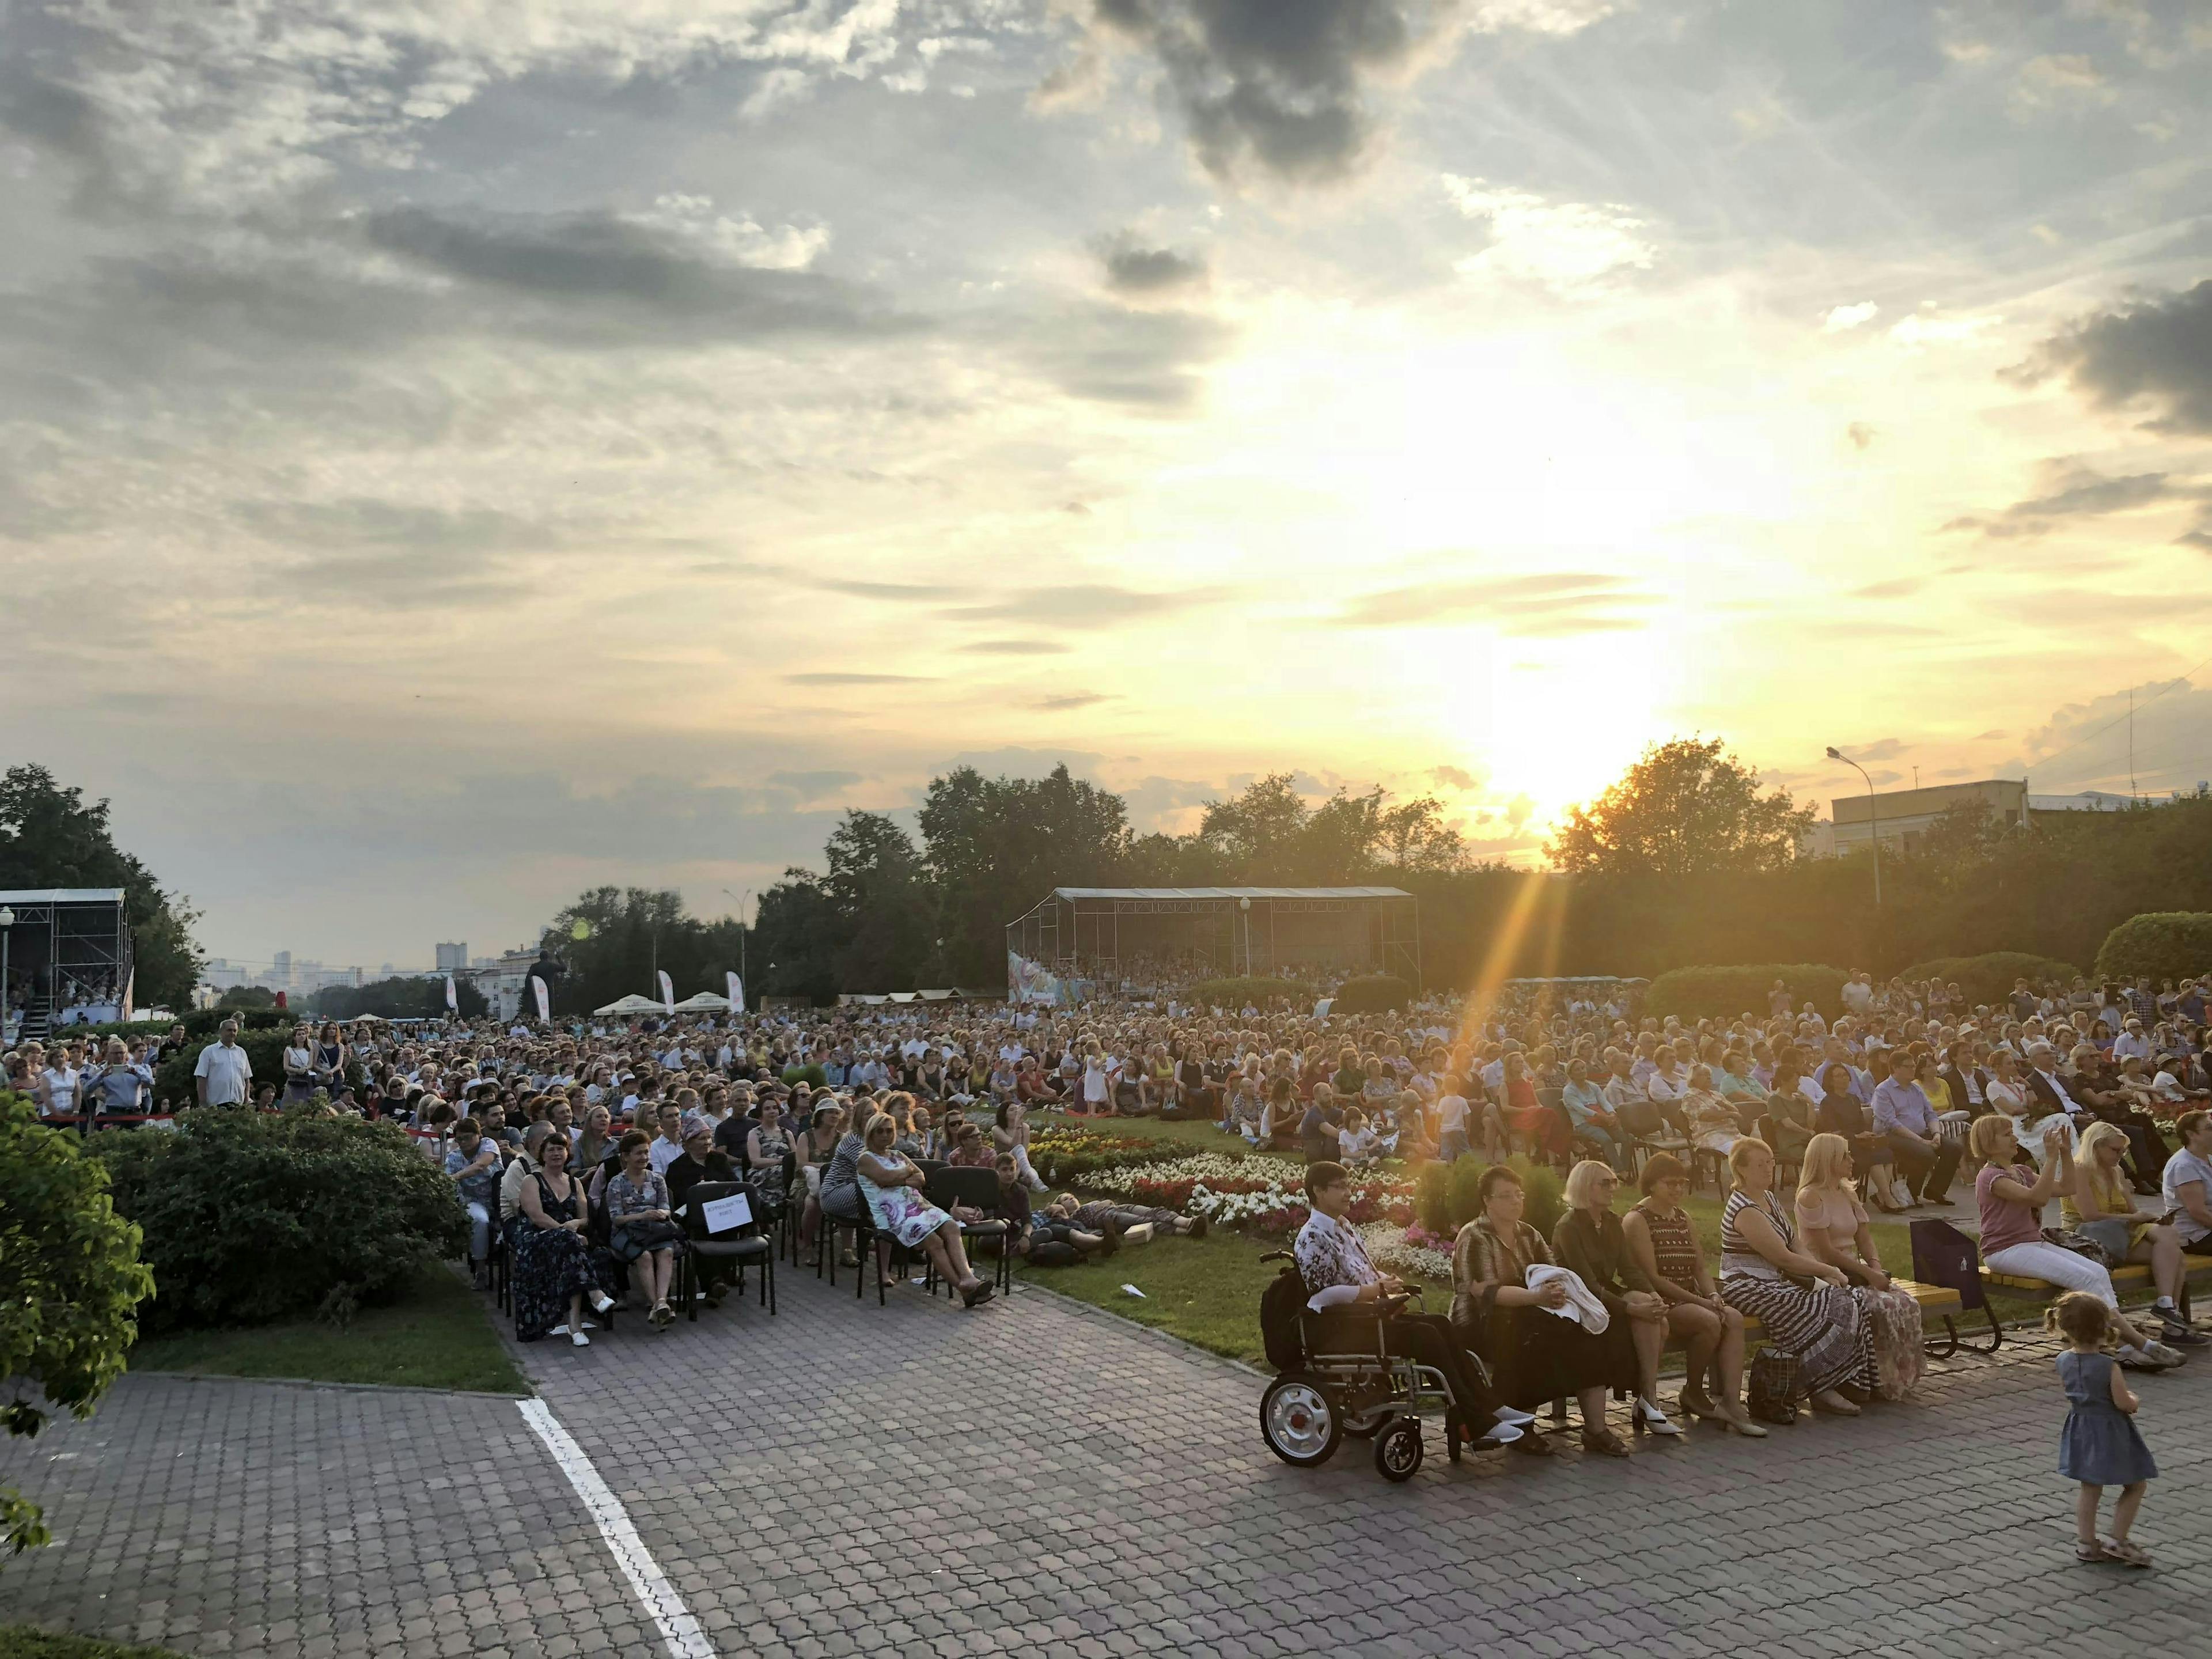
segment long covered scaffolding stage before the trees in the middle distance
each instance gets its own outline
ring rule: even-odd
[[[1055,887],[1006,922],[1015,1000],[1046,982],[1146,984],[1290,969],[1420,987],[1420,907],[1398,887]]]

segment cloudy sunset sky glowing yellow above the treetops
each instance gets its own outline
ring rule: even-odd
[[[2192,787],[2208,157],[2179,0],[0,0],[0,750],[369,964],[953,763]]]

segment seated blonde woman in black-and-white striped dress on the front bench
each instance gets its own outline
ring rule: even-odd
[[[1721,1212],[1721,1298],[1761,1323],[1767,1347],[1796,1358],[1798,1387],[1816,1411],[1856,1418],[1843,1389],[1867,1396],[1880,1380],[1860,1296],[1843,1267],[1796,1248],[1790,1210],[1774,1194],[1774,1148],[1745,1135],[1728,1168],[1736,1186]]]

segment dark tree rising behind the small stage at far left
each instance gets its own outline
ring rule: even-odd
[[[122,887],[131,914],[131,958],[139,1006],[181,1009],[199,982],[192,942],[199,914],[161,891],[161,883],[108,834],[108,803],[84,805],[42,765],[0,772],[0,889]]]

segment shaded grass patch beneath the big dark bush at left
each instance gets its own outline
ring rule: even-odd
[[[131,1349],[131,1369],[529,1394],[491,1329],[491,1298],[438,1263],[392,1307],[363,1307],[349,1329],[307,1318],[150,1336]],[[7,1648],[0,1659],[9,1659]]]

